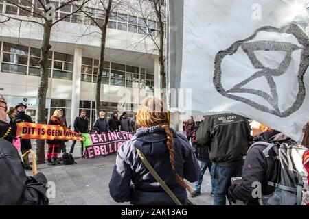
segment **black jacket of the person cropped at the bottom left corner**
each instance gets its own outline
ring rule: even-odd
[[[27,177],[21,157],[10,142],[0,139],[0,205],[48,205],[47,179]]]

